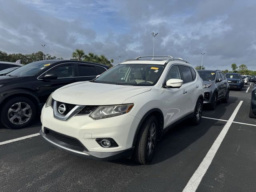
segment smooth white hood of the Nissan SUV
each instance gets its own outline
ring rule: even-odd
[[[77,105],[122,104],[126,99],[150,91],[151,87],[77,82],[59,88],[52,98]]]

